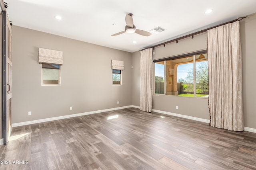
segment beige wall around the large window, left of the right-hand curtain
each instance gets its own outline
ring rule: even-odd
[[[192,51],[204,50],[207,48],[207,35],[202,33],[194,36],[192,39],[186,38],[178,41],[178,43],[173,42],[161,47],[156,47],[153,55],[154,59],[160,59],[175,55],[180,55],[184,53],[190,53]],[[132,64],[140,62],[140,53],[134,52],[132,54]],[[140,80],[140,69],[133,69],[132,79]],[[140,106],[140,84],[134,86],[133,83],[133,96],[132,104],[135,106]],[[178,106],[179,109],[176,109]],[[202,119],[209,119],[209,109],[208,109],[208,99],[205,98],[189,98],[180,96],[164,96],[164,95],[153,95],[152,108],[168,111],[172,113],[178,113],[182,115],[188,115],[193,117],[199,117]]]

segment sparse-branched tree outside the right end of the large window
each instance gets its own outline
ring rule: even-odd
[[[191,68],[188,71],[188,75],[185,78],[186,82],[194,82],[194,69]],[[196,64],[196,83],[206,83],[208,84],[208,62],[201,61]]]

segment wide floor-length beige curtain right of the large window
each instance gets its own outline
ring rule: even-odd
[[[243,131],[240,23],[207,31],[210,125]]]

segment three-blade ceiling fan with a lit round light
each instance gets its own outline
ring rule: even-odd
[[[135,25],[133,24],[133,19],[132,19],[132,16],[133,14],[127,14],[125,16],[125,22],[126,22],[126,26],[124,27],[124,31],[121,31],[119,33],[115,33],[111,36],[116,36],[116,35],[120,35],[122,33],[137,33],[137,34],[140,34],[140,35],[143,35],[143,36],[149,36],[151,35],[151,33],[147,32],[147,31],[143,31],[143,30],[140,30],[140,29],[136,29]]]

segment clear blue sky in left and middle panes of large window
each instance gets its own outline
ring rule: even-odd
[[[177,80],[179,80],[180,78],[186,78],[186,76],[188,75],[188,70],[190,70],[191,68],[193,68],[193,63],[180,64],[177,67]],[[164,77],[164,64],[155,63],[155,75]]]

